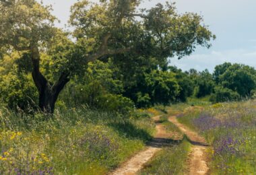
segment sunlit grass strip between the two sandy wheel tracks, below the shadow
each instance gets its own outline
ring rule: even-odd
[[[184,139],[179,145],[165,147],[154,155],[139,174],[184,174],[190,146]]]

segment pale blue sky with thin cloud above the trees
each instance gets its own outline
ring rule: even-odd
[[[64,27],[69,19],[69,8],[77,0],[43,0],[53,5],[53,13]],[[95,0],[94,0],[95,1]],[[165,0],[145,1],[141,7],[152,7]],[[189,57],[171,59],[171,65],[183,70],[214,70],[225,61],[256,67],[256,1],[255,0],[172,0],[179,13],[185,11],[203,15],[204,23],[216,34],[212,48],[200,48]]]

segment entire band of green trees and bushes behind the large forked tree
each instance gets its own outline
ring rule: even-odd
[[[9,108],[34,110],[38,91],[30,75],[28,55],[13,53],[0,61],[0,99]],[[65,87],[57,106],[77,108],[82,105],[125,113],[134,107],[186,102],[188,97],[210,96],[212,102],[251,98],[256,88],[253,67],[224,63],[214,73],[181,71],[154,60],[144,63],[115,58],[88,63],[83,75],[75,76]],[[42,55],[42,71],[51,77],[51,59]]]

